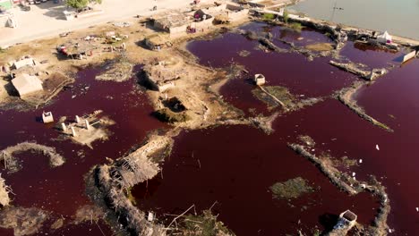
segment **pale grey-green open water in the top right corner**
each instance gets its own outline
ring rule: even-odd
[[[417,0],[304,0],[291,8],[321,20],[419,39]]]

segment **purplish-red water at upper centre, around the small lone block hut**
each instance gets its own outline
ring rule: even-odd
[[[301,41],[317,42],[329,41],[324,35],[315,31],[302,31],[298,35],[295,31],[280,30],[276,28],[263,27],[261,23],[246,25],[245,30],[258,32],[270,31],[274,38],[295,40],[304,38]],[[300,43],[297,40],[297,43]],[[259,112],[265,112],[265,105],[252,96],[252,87],[249,79],[255,73],[263,73],[267,78],[268,85],[285,86],[297,97],[325,97],[332,91],[341,89],[355,80],[352,74],[342,72],[329,65],[329,57],[315,58],[309,62],[304,55],[299,54],[277,54],[265,53],[259,49],[257,41],[251,41],[241,35],[226,33],[222,38],[215,38],[210,41],[194,41],[188,45],[188,49],[194,55],[198,55],[201,63],[213,67],[227,67],[232,62],[242,64],[249,71],[240,78],[230,81],[221,89],[227,102],[247,112],[248,108],[257,108]],[[278,42],[278,44],[281,44]],[[242,50],[251,52],[246,57],[239,56]]]

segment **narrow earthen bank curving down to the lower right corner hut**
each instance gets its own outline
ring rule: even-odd
[[[315,164],[321,173],[326,175],[340,190],[344,190],[350,195],[356,195],[362,191],[368,191],[372,194],[372,196],[379,198],[381,206],[374,218],[374,222],[368,226],[359,225],[356,227],[356,230],[359,232],[359,235],[387,235],[389,230],[387,218],[390,212],[389,198],[384,186],[382,186],[374,176],[371,175],[369,181],[355,180],[355,178],[351,178],[347,173],[338,171],[334,164],[330,162],[328,157],[315,156],[310,153],[310,151],[308,151],[310,147],[296,143],[289,143],[288,147],[293,149],[298,155],[304,156]],[[327,235],[336,235],[333,234],[333,231],[327,233],[329,233]]]

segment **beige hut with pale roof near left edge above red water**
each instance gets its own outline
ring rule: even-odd
[[[20,74],[12,80],[14,88],[19,92],[20,97],[42,91],[42,81],[37,76],[29,74]]]

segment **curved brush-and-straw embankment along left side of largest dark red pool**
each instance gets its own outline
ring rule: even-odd
[[[166,136],[152,135],[141,147],[132,153],[115,160],[112,164],[103,164],[93,170],[97,196],[93,200],[104,201],[108,210],[115,214],[119,223],[133,235],[157,236],[166,235],[164,225],[151,223],[125,195],[135,184],[152,179],[160,168],[151,158],[156,153],[167,155],[173,146],[173,139]]]

